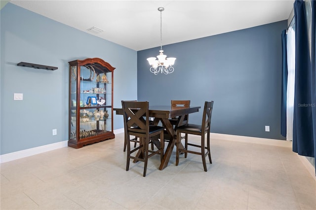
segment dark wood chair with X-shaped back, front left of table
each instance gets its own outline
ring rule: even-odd
[[[163,127],[150,125],[149,121],[149,102],[125,102],[122,101],[122,108],[124,111],[124,129],[125,138],[127,142],[127,160],[126,171],[129,170],[130,159],[144,162],[144,174],[146,176],[148,158],[155,154],[160,154],[160,162],[163,157]],[[156,151],[149,150],[149,143],[151,137],[159,135],[160,148]],[[139,146],[130,148],[130,136],[135,136],[140,139]],[[132,153],[136,152],[135,156]]]

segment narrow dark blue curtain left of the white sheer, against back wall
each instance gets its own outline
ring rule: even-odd
[[[281,101],[281,135],[286,137],[286,89],[287,89],[287,53],[286,30],[282,31],[282,101]]]

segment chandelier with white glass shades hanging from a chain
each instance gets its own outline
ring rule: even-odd
[[[149,65],[151,65],[150,71],[157,75],[159,72],[168,74],[173,72],[173,67],[172,65],[174,64],[174,61],[176,58],[166,58],[166,55],[163,55],[163,50],[162,50],[162,33],[161,33],[161,12],[164,10],[163,7],[159,7],[158,11],[160,12],[160,50],[159,50],[159,55],[157,56],[158,60],[156,60],[155,57],[147,58],[147,61],[149,62]]]

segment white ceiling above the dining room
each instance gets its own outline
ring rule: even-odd
[[[13,4],[133,50],[288,19],[294,0],[11,0]],[[87,29],[97,27],[102,33]]]

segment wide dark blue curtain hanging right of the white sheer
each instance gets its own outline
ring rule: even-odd
[[[315,10],[313,11],[315,15]],[[293,151],[300,155],[315,157],[315,107],[312,94],[315,94],[315,75],[312,78],[312,68],[309,52],[305,3],[302,0],[294,2],[295,18],[295,94],[293,122]],[[314,24],[315,27],[315,24]],[[315,28],[314,28],[315,30]],[[314,37],[315,39],[315,37]],[[315,40],[314,40],[315,41]],[[315,58],[315,55],[314,55]],[[314,59],[312,59],[314,60]],[[314,71],[315,74],[315,71]],[[312,83],[314,83],[312,85]],[[314,111],[312,109],[314,108]]]

